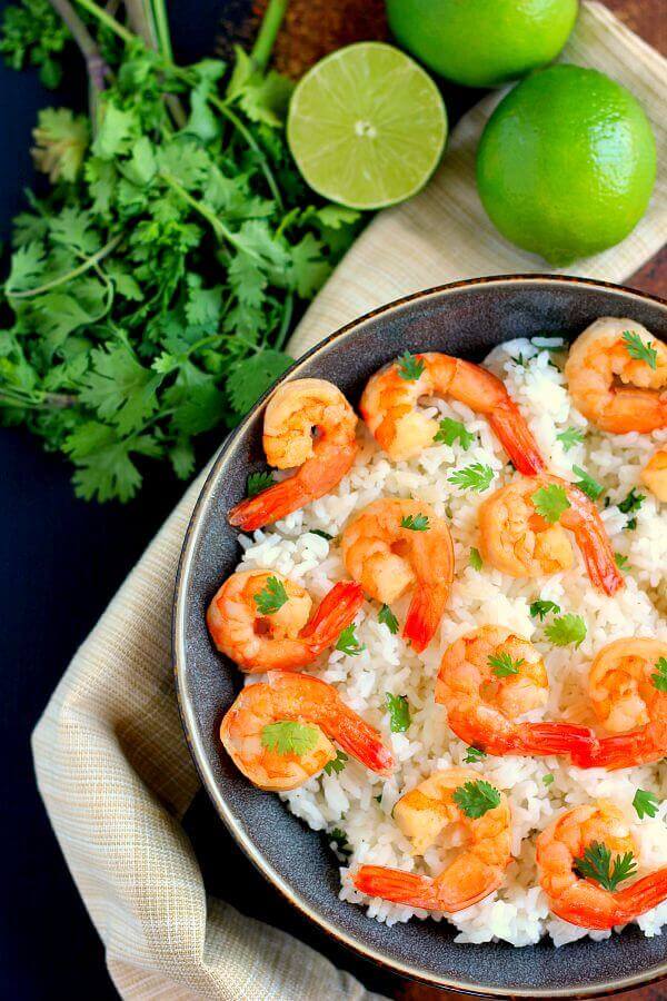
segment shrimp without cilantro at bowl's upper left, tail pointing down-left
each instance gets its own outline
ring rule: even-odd
[[[332,490],[355,462],[356,428],[357,415],[332,383],[295,379],[280,386],[265,412],[263,449],[270,466],[299,468],[232,507],[230,525],[252,532]]]

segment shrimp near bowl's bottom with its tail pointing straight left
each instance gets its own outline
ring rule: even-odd
[[[462,851],[440,875],[431,879],[400,869],[361,865],[352,875],[355,886],[369,896],[427,911],[455,913],[470,908],[502,885],[511,861],[511,817],[507,797],[482,816],[469,817],[454,800],[457,789],[482,776],[472,769],[446,769],[406,793],[394,807],[394,819],[422,855],[446,830],[466,838]]]

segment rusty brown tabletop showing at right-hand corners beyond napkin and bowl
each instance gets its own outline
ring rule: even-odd
[[[633,31],[667,56],[667,0],[604,0],[604,2]],[[636,271],[627,284],[633,288],[667,298],[667,246]],[[464,998],[454,991],[440,991],[398,980],[394,997],[397,1001],[444,1001],[444,999],[462,1001]],[[667,984],[655,984],[618,997],[624,1001],[667,1001]]]

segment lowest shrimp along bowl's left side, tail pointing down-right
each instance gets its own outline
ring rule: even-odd
[[[267,732],[276,723],[302,724],[307,750],[293,741],[291,750],[276,744]],[[372,772],[387,775],[394,767],[379,733],[348,708],[334,685],[308,674],[271,671],[266,682],[247,685],[225,714],[220,740],[253,785],[275,792],[297,789],[321,772],[336,757],[331,741]]]

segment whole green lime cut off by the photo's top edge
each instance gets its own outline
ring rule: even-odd
[[[397,41],[467,87],[497,87],[546,66],[573,30],[577,0],[387,0]]]

